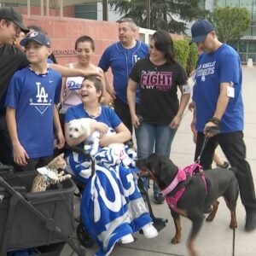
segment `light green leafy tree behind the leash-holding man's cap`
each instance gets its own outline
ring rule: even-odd
[[[212,20],[218,39],[228,44],[241,38],[241,32],[247,30],[251,22],[247,9],[239,7],[216,8]]]

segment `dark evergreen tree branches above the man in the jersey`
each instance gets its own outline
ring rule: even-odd
[[[137,26],[147,27],[148,0],[109,0],[110,7],[122,17],[136,21]],[[200,0],[150,0],[150,28],[185,34],[186,21],[205,17],[208,13],[199,7]]]

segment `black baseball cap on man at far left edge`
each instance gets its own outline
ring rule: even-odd
[[[22,16],[11,7],[0,8],[0,18],[3,20],[13,21],[17,26],[20,27],[22,32],[29,32],[29,29],[23,24]]]

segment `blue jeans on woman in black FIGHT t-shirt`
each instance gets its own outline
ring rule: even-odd
[[[137,157],[146,158],[153,152],[170,156],[172,140],[177,129],[170,128],[169,125],[156,125],[143,122],[135,129],[137,139]],[[144,178],[144,187],[148,189],[148,178]],[[154,185],[154,195],[160,193]]]

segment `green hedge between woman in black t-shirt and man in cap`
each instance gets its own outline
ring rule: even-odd
[[[187,74],[196,66],[198,51],[195,44],[189,45],[189,40],[173,40],[173,48],[177,61],[183,66]]]

